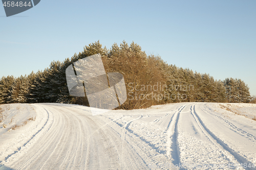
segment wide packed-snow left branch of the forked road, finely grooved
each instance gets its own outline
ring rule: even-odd
[[[49,105],[42,107],[46,108],[50,115],[55,116],[53,124],[52,126],[47,124],[47,128],[40,131],[41,135],[37,135],[36,145],[29,148],[28,156],[18,157],[18,161],[13,163],[12,167],[15,169],[120,168],[117,161],[119,154],[115,149],[118,140],[112,140],[115,136],[110,135],[105,128],[102,129],[104,125],[102,126],[98,117],[80,114],[81,110],[78,109],[74,111],[74,109],[67,110]],[[87,138],[87,134],[92,135]]]

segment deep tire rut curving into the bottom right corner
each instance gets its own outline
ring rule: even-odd
[[[197,124],[199,125],[200,129],[204,132],[204,134],[209,138],[209,140],[216,144],[217,147],[222,151],[224,155],[228,154],[228,156],[235,158],[240,164],[241,163],[247,163],[247,165],[252,162],[248,161],[246,158],[243,156],[239,155],[236,151],[232,150],[231,148],[228,147],[224,141],[222,141],[220,138],[218,138],[214,133],[212,133],[203,123],[202,119],[199,117],[199,115],[196,112],[195,105],[191,106],[191,114],[194,116],[196,119]],[[227,151],[226,153],[224,151]],[[245,169],[255,169],[251,167],[247,167]]]

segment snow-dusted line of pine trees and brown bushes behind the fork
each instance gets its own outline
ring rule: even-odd
[[[66,68],[73,62],[101,54],[106,72],[120,72],[125,81],[127,100],[117,109],[147,108],[177,102],[249,103],[249,87],[241,79],[215,80],[208,74],[169,65],[160,56],[146,55],[141,47],[125,41],[110,49],[99,41],[64,61],[53,61],[45,70],[0,80],[0,104],[66,103],[89,105],[87,98],[69,94]]]

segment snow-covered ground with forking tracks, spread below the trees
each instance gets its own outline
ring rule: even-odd
[[[256,169],[255,104],[177,103],[96,116],[79,105],[0,108],[0,169]]]

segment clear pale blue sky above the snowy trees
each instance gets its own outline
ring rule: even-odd
[[[100,40],[125,40],[168,64],[217,80],[242,79],[256,95],[256,1],[48,1],[6,17],[0,7],[0,77],[30,74]]]

